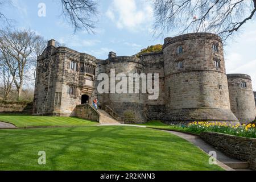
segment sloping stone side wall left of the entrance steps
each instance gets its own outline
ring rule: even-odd
[[[88,119],[91,121],[100,121],[100,114],[89,104],[77,105],[71,115],[73,117]]]

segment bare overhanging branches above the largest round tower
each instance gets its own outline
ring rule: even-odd
[[[153,0],[155,32],[212,32],[223,40],[255,18],[256,0]]]

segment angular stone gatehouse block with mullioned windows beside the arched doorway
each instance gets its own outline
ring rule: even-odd
[[[71,62],[76,63],[76,69],[71,68]],[[69,116],[81,104],[83,94],[92,103],[95,77],[94,73],[85,72],[85,65],[91,70],[96,68],[96,57],[55,47],[50,40],[38,57],[33,114]],[[71,86],[73,94],[69,93]]]

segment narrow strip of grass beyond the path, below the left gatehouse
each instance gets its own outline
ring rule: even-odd
[[[44,117],[20,114],[0,114],[0,121],[9,122],[16,127],[66,127],[97,125],[97,122],[71,117]]]

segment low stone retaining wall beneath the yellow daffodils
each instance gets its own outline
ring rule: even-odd
[[[249,162],[250,168],[256,170],[255,138],[236,137],[211,132],[201,133],[200,137],[226,155]]]

